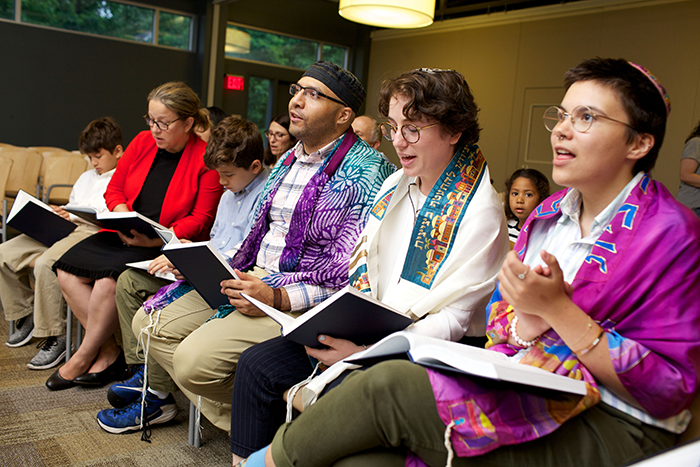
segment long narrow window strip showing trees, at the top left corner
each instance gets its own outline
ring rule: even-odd
[[[0,0],[1,18],[13,17],[13,4],[14,0]],[[19,4],[23,23],[192,49],[190,15],[108,0],[20,0]]]

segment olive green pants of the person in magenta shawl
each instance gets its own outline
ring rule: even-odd
[[[283,425],[272,442],[277,467],[404,466],[408,450],[444,466],[445,424],[424,368],[405,361],[356,371]],[[543,438],[504,446],[458,466],[620,466],[673,446],[676,435],[644,425],[605,404]]]

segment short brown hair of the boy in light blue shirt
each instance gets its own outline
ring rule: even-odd
[[[248,169],[256,160],[262,163],[262,158],[262,136],[255,123],[226,117],[211,130],[204,164],[209,169],[229,164]]]

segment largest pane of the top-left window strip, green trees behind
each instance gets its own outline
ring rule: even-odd
[[[22,0],[22,21],[153,42],[155,10],[105,0]]]

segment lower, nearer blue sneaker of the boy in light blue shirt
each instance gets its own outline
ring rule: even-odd
[[[146,422],[149,425],[165,423],[175,418],[177,405],[172,394],[165,399],[159,399],[155,394],[146,392],[146,407],[144,408]],[[97,414],[97,423],[110,433],[137,431],[141,427],[141,399],[122,409],[105,409]]]

